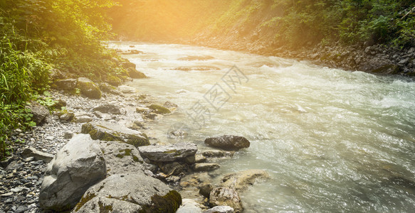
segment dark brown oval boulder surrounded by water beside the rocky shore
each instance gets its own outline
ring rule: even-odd
[[[224,149],[240,149],[240,148],[248,148],[251,143],[243,136],[229,136],[224,135],[220,137],[213,137],[213,138],[206,138],[204,140],[209,146],[214,146],[218,148]]]

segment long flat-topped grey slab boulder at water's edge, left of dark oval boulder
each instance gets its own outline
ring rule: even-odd
[[[138,150],[143,158],[157,162],[169,162],[195,155],[197,146],[194,143],[176,143],[170,146],[142,146]]]

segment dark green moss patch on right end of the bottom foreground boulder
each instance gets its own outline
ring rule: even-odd
[[[164,196],[153,195],[152,204],[143,205],[140,213],[167,212],[174,213],[182,204],[182,196],[172,190]]]

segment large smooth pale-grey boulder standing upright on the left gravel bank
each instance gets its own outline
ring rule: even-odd
[[[43,209],[65,211],[106,176],[103,153],[89,135],[72,138],[48,164],[39,193]]]

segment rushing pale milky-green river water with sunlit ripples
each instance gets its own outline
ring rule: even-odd
[[[129,45],[144,52],[127,58],[149,77],[130,85],[179,106],[150,124],[158,141],[174,141],[168,132],[180,128],[199,149],[210,136],[251,141],[215,171],[270,174],[241,195],[246,209],[414,211],[414,82],[189,45],[110,43]],[[184,58],[196,55],[204,58]]]

